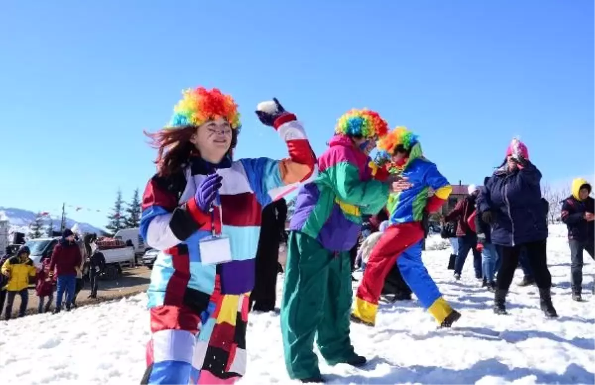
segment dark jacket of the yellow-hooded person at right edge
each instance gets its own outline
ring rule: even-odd
[[[585,212],[595,213],[595,199],[580,201],[571,195],[562,201],[562,222],[568,227],[568,239],[595,243],[595,220],[587,222]]]

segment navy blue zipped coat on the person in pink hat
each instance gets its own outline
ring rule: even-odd
[[[527,161],[509,172],[494,172],[477,197],[479,212],[491,211],[491,242],[514,246],[547,239],[547,212],[541,200],[541,172]]]

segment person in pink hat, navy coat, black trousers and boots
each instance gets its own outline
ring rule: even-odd
[[[477,199],[482,219],[491,225],[491,241],[501,251],[502,267],[494,294],[496,314],[507,314],[506,294],[525,247],[539,288],[541,310],[546,317],[558,317],[552,304],[552,275],[547,268],[547,216],[540,182],[541,172],[530,162],[527,147],[514,138],[506,150],[506,159]]]

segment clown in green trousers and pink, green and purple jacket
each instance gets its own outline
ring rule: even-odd
[[[330,365],[364,365],[349,340],[352,303],[349,250],[356,244],[362,214],[386,204],[389,185],[371,179],[369,152],[387,124],[374,111],[343,115],[328,149],[318,159],[317,178],[297,195],[290,223],[281,304],[281,331],[289,376],[323,381],[314,354]]]

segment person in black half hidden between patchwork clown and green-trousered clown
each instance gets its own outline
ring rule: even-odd
[[[279,245],[284,241],[287,202],[284,198],[262,209],[261,231],[256,251],[254,289],[249,308],[254,311],[275,311]]]

